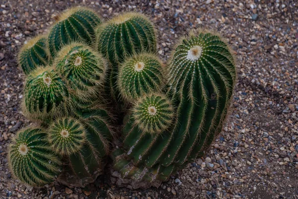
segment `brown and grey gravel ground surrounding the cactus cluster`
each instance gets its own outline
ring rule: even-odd
[[[158,189],[117,188],[108,176],[84,189],[33,189],[7,169],[10,137],[30,124],[20,111],[18,49],[76,4],[103,17],[147,12],[164,60],[181,32],[196,26],[221,30],[238,53],[238,83],[221,136]],[[0,6],[0,199],[298,199],[298,1],[0,0]]]

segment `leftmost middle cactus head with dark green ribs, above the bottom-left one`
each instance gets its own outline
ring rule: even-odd
[[[22,111],[34,120],[45,121],[67,113],[69,92],[53,67],[37,68],[26,78]]]

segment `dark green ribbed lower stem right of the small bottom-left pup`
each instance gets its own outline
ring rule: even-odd
[[[69,156],[70,170],[79,179],[93,178],[103,169],[113,137],[110,114],[102,108],[77,110],[76,117],[84,127],[85,141],[79,151]],[[97,177],[97,176],[96,176]]]

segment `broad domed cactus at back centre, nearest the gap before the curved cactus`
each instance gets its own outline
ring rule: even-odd
[[[156,52],[154,26],[144,14],[121,14],[98,26],[96,48],[112,64],[110,88],[115,95],[119,64],[134,54]]]

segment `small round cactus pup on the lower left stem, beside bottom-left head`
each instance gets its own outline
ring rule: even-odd
[[[77,152],[86,140],[83,125],[74,118],[59,118],[53,122],[48,138],[53,149],[63,156]]]

